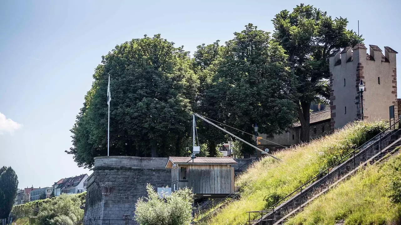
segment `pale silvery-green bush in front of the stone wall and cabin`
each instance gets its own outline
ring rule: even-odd
[[[135,204],[135,220],[140,225],[187,225],[192,220],[193,194],[188,188],[159,198],[152,185],[146,186],[148,197]]]

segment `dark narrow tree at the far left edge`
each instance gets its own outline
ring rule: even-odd
[[[8,218],[18,191],[18,177],[11,167],[0,168],[0,218]]]

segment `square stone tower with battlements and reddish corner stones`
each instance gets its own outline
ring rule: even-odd
[[[361,119],[358,84],[363,80],[364,119],[388,120],[389,106],[397,115],[396,52],[384,47],[385,55],[376,45],[348,46],[330,54],[330,109],[331,129]]]

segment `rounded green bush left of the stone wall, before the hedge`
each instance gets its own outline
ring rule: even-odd
[[[83,219],[81,200],[77,195],[61,194],[43,204],[38,213],[41,225],[73,225]]]

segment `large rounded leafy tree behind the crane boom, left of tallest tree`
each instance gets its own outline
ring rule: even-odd
[[[210,75],[205,76],[208,84],[202,90],[201,110],[247,133],[253,133],[255,123],[259,132],[281,133],[294,120],[294,76],[288,56],[268,32],[253,24],[234,36],[219,49]],[[252,141],[249,135],[233,132]]]

